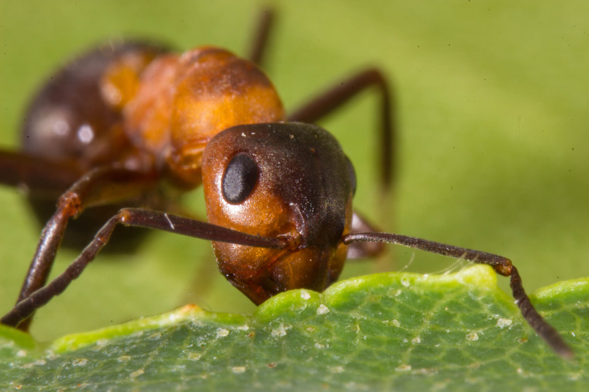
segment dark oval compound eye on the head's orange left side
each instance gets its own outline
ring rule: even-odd
[[[223,173],[223,197],[231,204],[239,204],[252,193],[258,179],[256,161],[245,152],[231,159]]]

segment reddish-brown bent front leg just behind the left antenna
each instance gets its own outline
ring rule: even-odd
[[[29,265],[18,300],[22,301],[45,285],[57,248],[64,235],[68,220],[93,205],[111,204],[129,200],[153,188],[156,183],[153,172],[130,171],[120,167],[103,167],[92,170],[76,181],[59,197],[57,210],[41,232],[35,255]],[[29,321],[19,325],[28,330]]]

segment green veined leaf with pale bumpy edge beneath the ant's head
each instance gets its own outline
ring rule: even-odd
[[[555,390],[587,387],[589,280],[541,290],[538,309],[573,346],[550,351],[491,268],[386,273],[293,290],[253,315],[186,306],[42,350],[0,330],[0,389]]]

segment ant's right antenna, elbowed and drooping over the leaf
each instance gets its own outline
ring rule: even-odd
[[[345,235],[343,238],[345,244],[356,241],[388,242],[448,257],[464,258],[473,263],[491,265],[498,274],[510,277],[509,284],[511,285],[515,303],[517,303],[521,314],[536,333],[560,356],[565,358],[573,357],[573,350],[532,305],[530,297],[525,293],[517,268],[511,264],[511,260],[508,258],[474,249],[446,245],[441,242],[385,232],[355,233]]]

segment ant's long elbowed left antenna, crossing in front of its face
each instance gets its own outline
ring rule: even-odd
[[[260,237],[166,212],[144,208],[124,208],[102,226],[94,240],[84,248],[78,258],[61,275],[51,283],[22,298],[11,311],[0,319],[0,323],[11,326],[22,324],[23,320],[30,318],[35,310],[47,304],[55,295],[61,294],[94,260],[101,248],[108,242],[117,224],[164,230],[209,241],[223,241],[253,247],[282,249],[289,246],[287,239],[282,237]]]

